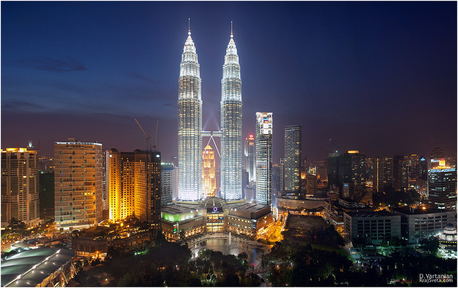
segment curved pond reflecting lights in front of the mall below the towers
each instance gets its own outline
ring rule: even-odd
[[[248,262],[254,266],[259,264],[259,260],[257,260],[256,257],[259,253],[262,253],[261,250],[263,250],[260,248],[249,248],[248,244],[234,240],[231,240],[231,245],[229,245],[228,239],[208,239],[192,247],[192,257],[198,257],[199,252],[205,249],[221,251],[223,254],[233,254],[235,256],[245,251],[248,254]]]

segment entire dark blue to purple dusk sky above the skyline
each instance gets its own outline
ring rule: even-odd
[[[53,155],[76,137],[120,151],[178,154],[181,54],[191,18],[204,130],[219,130],[231,21],[243,135],[273,112],[274,162],[285,125],[302,156],[456,152],[456,2],[2,2],[1,146]],[[208,139],[204,139],[204,146]]]

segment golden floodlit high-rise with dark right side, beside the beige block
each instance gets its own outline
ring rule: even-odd
[[[161,154],[157,151],[118,152],[112,148],[108,181],[109,217],[113,221],[135,216],[161,229]]]

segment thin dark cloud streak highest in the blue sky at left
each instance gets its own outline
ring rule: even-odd
[[[36,59],[22,59],[11,62],[12,65],[51,72],[70,72],[88,70],[82,63],[74,59],[53,59],[49,57],[37,57]]]

